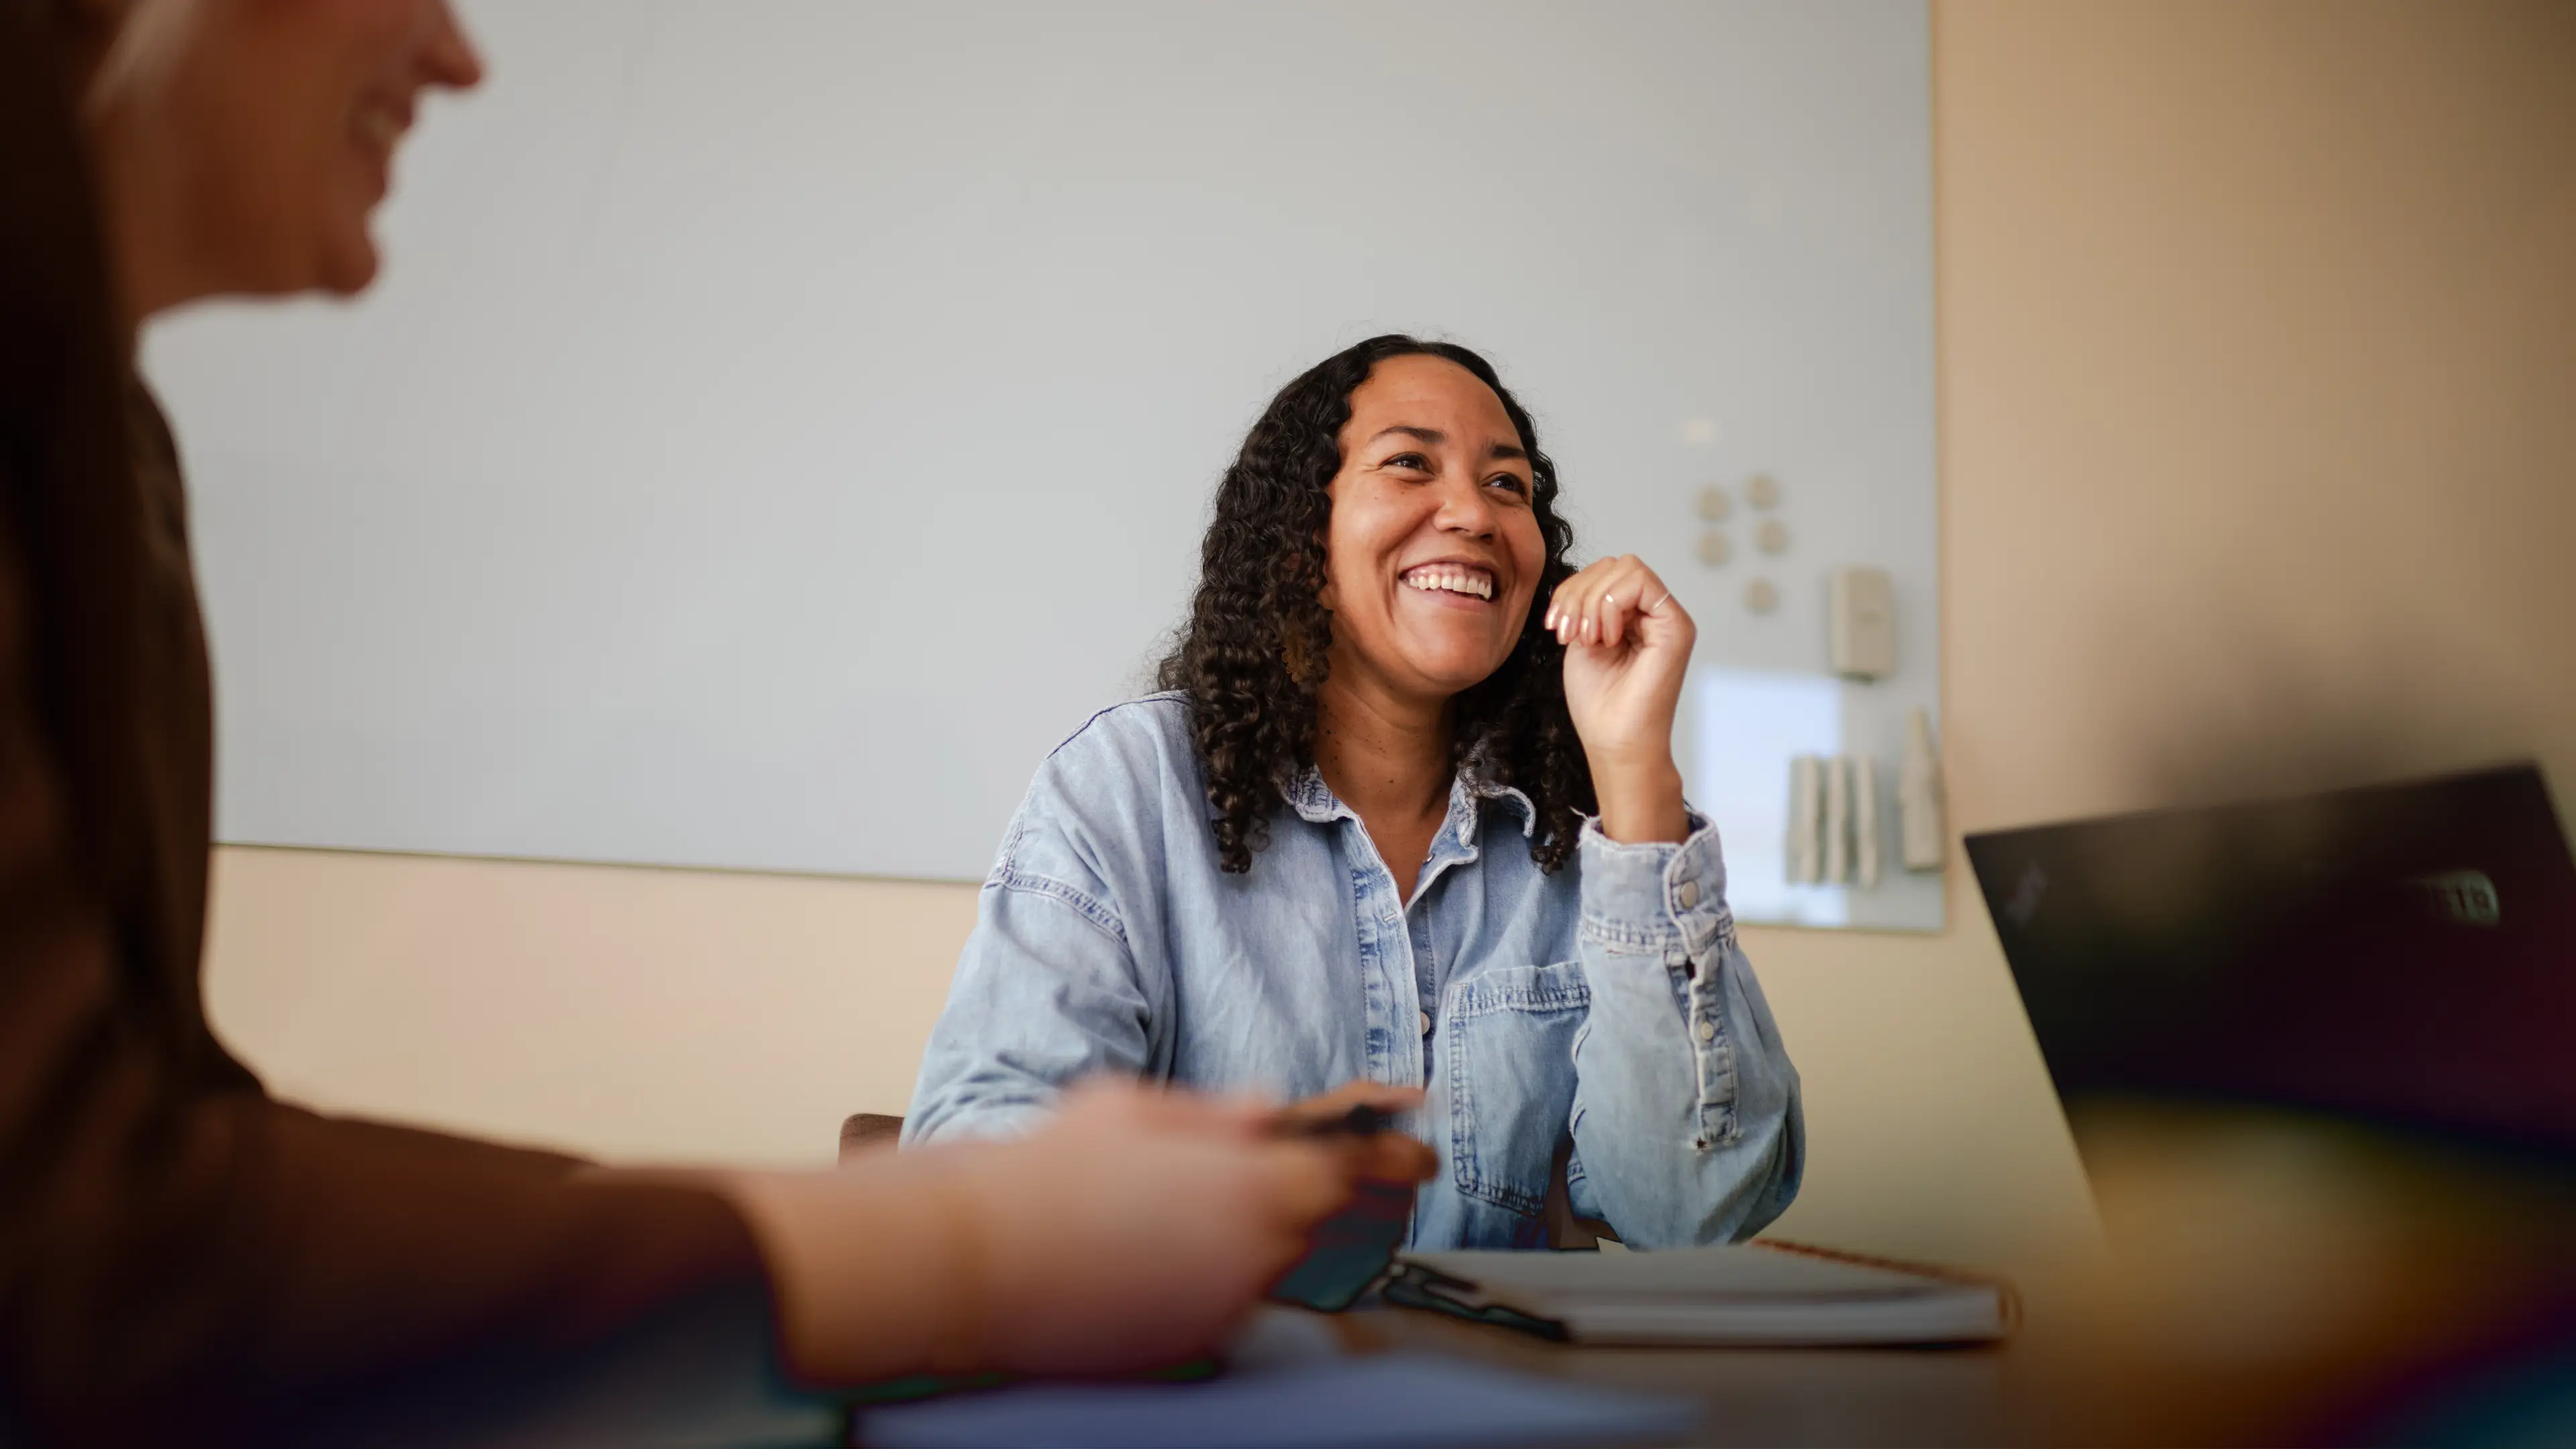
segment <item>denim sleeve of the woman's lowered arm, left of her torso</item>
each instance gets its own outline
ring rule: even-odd
[[[1033,797],[976,902],[904,1142],[1010,1137],[1079,1078],[1146,1073],[1154,995],[1108,890]]]

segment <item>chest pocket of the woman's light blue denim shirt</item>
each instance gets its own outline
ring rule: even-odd
[[[1502,967],[1450,987],[1450,1171],[1476,1201],[1538,1217],[1574,1109],[1574,1034],[1592,1006],[1582,962]]]

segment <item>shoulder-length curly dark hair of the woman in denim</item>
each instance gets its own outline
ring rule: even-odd
[[[1494,389],[1530,451],[1530,508],[1548,544],[1520,645],[1455,699],[1455,766],[1530,797],[1538,807],[1530,856],[1546,871],[1566,864],[1582,815],[1595,810],[1592,768],[1566,714],[1564,647],[1540,629],[1548,596],[1574,572],[1566,562],[1574,529],[1556,516],[1556,464],[1494,364],[1455,343],[1388,333],[1306,369],[1252,423],[1244,451],[1216,485],[1190,621],[1157,670],[1162,688],[1188,696],[1190,745],[1216,810],[1216,853],[1236,874],[1270,843],[1283,789],[1314,763],[1316,688],[1332,652],[1332,611],[1321,601],[1332,521],[1324,490],[1342,472],[1352,389],[1401,356],[1448,358]]]

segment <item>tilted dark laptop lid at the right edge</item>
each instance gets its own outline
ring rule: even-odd
[[[2089,1098],[2262,1104],[2576,1158],[2576,861],[2535,766],[1968,835]]]

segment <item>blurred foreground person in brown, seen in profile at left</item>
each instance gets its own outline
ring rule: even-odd
[[[211,701],[137,327],[363,289],[440,0],[0,0],[0,1441],[366,1441],[711,1297],[806,1382],[1213,1343],[1350,1194],[1252,1104],[623,1173],[270,1101],[198,993]]]

